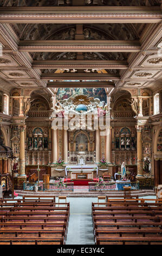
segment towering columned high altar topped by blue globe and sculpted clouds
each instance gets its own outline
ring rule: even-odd
[[[51,135],[52,141],[55,140],[52,144],[51,155],[53,165],[57,161],[59,150],[61,159],[67,164],[65,172],[68,178],[93,180],[98,176],[97,165],[101,157],[105,156],[111,166],[111,151],[109,150],[111,135],[108,129],[105,129],[104,133],[99,126],[100,118],[103,120],[103,125],[108,123],[108,105],[98,98],[94,99],[94,97],[80,94],[63,100],[62,103],[57,102],[53,109],[51,114]],[[61,126],[65,123],[66,126],[63,126],[62,130],[61,127],[57,129],[58,124]],[[60,141],[62,137],[63,143]],[[71,169],[70,172],[68,166]],[[51,167],[51,176],[56,176],[54,174],[57,170],[59,171],[58,167]]]

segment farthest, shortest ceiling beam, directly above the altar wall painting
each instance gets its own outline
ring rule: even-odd
[[[106,88],[115,87],[113,82],[49,82],[47,88]]]

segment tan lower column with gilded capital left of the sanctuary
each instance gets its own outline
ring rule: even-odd
[[[20,176],[25,176],[25,128],[26,126],[20,126]]]

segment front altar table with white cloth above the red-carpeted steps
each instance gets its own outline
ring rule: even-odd
[[[65,168],[66,176],[70,174],[70,180],[93,180],[98,176],[98,166],[92,165],[68,165]]]

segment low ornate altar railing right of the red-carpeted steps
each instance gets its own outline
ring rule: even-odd
[[[131,190],[139,190],[139,181],[138,182],[130,182]],[[89,182],[89,191],[115,191],[116,183],[115,182],[105,182],[105,187],[96,186],[96,182]]]

